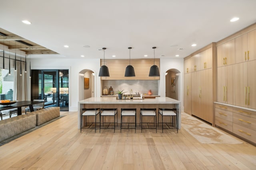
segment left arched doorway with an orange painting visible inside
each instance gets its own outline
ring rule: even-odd
[[[81,70],[78,79],[79,101],[94,97],[94,71],[89,69]]]

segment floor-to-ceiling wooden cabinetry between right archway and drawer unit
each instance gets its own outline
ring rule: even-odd
[[[213,123],[215,98],[215,51],[215,43],[212,43],[184,59],[184,111],[210,123]]]

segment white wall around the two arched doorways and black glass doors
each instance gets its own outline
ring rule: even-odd
[[[165,96],[165,72],[171,68],[177,69],[181,72],[179,88],[179,100],[183,106],[183,59],[160,59],[160,80],[158,81],[158,94]],[[82,70],[92,70],[95,73],[94,80],[94,95],[100,97],[101,94],[101,82],[98,76],[100,70],[100,59],[31,59],[31,69],[68,69],[69,70],[69,111],[78,110],[79,100],[79,75]],[[82,73],[84,74],[84,72]],[[30,89],[30,79],[28,78],[28,88]],[[82,88],[84,88],[82,86]],[[28,90],[30,93],[30,90]],[[29,94],[30,96],[30,94]],[[183,109],[182,109],[183,110]]]

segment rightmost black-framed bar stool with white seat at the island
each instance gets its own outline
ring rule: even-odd
[[[175,112],[176,113],[175,113]],[[173,117],[176,116],[176,128],[177,128],[177,133],[178,133],[178,116],[177,116],[177,109],[173,108],[173,109],[163,109],[163,108],[159,108],[158,109],[158,126],[159,126],[159,114],[162,115],[162,133],[164,133],[164,129],[173,129],[173,128],[170,128],[168,125],[167,125],[167,122],[163,122],[163,117],[164,116],[172,116],[172,127],[173,127]],[[168,126],[168,128],[164,128],[164,125],[163,124],[166,124]]]

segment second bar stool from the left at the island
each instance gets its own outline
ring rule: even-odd
[[[118,120],[117,108],[112,108],[112,109],[101,108],[100,110],[101,110],[101,112],[100,112],[100,129],[114,129],[114,133],[115,133],[115,130],[116,130],[115,127],[118,126],[117,125],[117,120]],[[108,122],[109,123],[108,127],[101,128],[101,117],[102,117],[102,126],[104,126],[104,116],[114,116],[114,128],[109,127],[111,122]]]

